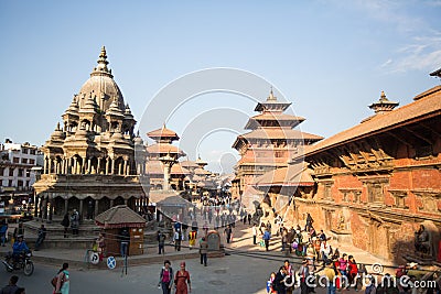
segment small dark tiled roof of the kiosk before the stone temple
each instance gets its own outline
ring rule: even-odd
[[[105,228],[144,227],[146,219],[131,210],[127,205],[118,205],[95,218],[98,226]]]

